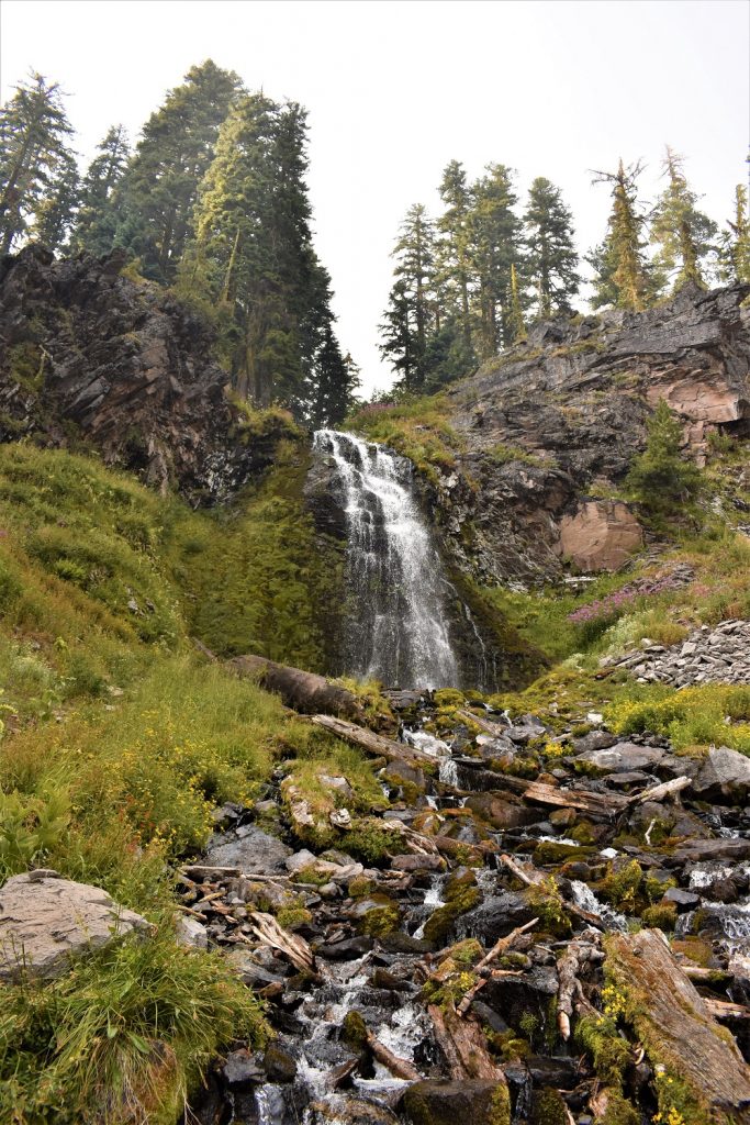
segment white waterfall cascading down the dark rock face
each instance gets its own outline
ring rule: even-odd
[[[346,513],[346,670],[390,686],[458,684],[445,623],[451,587],[415,498],[412,462],[335,430],[318,430],[315,448],[336,464]]]

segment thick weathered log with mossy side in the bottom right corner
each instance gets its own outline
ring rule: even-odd
[[[747,1120],[750,1070],[662,934],[611,934],[604,946],[607,969],[627,996],[633,1026],[652,1065],[679,1077],[712,1120]]]

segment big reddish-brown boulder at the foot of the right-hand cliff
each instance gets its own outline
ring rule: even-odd
[[[618,501],[584,501],[560,521],[560,554],[586,573],[617,570],[642,546],[640,523]]]

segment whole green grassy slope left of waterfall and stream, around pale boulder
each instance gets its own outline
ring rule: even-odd
[[[300,471],[287,447],[219,516],[94,460],[0,447],[0,881],[48,865],[156,926],[60,981],[0,986],[0,1120],[118,1122],[141,1107],[171,1123],[201,1065],[265,1034],[220,960],[175,944],[170,864],[281,758],[302,777],[316,760],[345,770],[363,808],[376,793],[356,755],[189,639],[320,662],[315,600],[336,557],[302,513]]]

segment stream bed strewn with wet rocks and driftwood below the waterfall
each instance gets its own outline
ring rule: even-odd
[[[278,1036],[214,1068],[190,1120],[750,1120],[747,759],[466,708],[437,738],[428,694],[394,702],[391,737],[310,717],[373,760],[385,810],[322,777],[322,842],[279,777],[178,874],[183,939]]]

